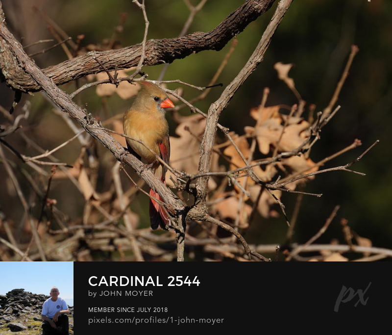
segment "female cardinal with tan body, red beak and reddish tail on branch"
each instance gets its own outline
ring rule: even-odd
[[[128,150],[139,159],[143,158],[147,164],[152,164],[155,176],[166,185],[167,168],[159,163],[152,152],[169,164],[169,125],[165,119],[165,108],[173,108],[174,104],[165,91],[158,86],[147,81],[140,83],[142,90],[135,98],[131,108],[125,112],[123,127],[125,135],[139,140],[143,144],[126,138]],[[152,197],[149,209],[151,228],[155,230],[160,226],[167,230],[166,225],[169,224],[169,218],[162,206],[153,200],[155,198],[162,201],[162,198],[152,189],[150,189],[150,196]]]

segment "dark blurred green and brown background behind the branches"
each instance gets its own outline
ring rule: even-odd
[[[193,0],[196,4],[198,1]],[[196,15],[189,32],[208,31],[217,26],[229,13],[239,7],[240,0],[208,0]],[[140,9],[130,0],[3,0],[6,20],[23,44],[39,39],[52,38],[42,17],[31,6],[45,10],[73,39],[84,34],[82,46],[100,43],[110,38],[118,25],[121,13],[128,14],[123,32],[118,40],[122,46],[140,43],[144,33],[144,20]],[[147,16],[150,22],[148,39],[171,38],[179,34],[189,10],[182,0],[147,0]],[[238,45],[225,67],[219,82],[228,84],[243,67],[253,52],[268,25],[276,3],[271,10],[251,23],[238,35]],[[309,104],[316,104],[316,111],[322,110],[329,102],[336,83],[343,71],[350,46],[355,44],[360,52],[354,59],[349,76],[341,92],[338,104],[341,110],[325,127],[321,140],[312,150],[311,158],[318,161],[336,153],[359,138],[363,146],[330,161],[325,167],[346,164],[365,148],[379,139],[380,143],[352,169],[367,174],[361,177],[346,172],[332,172],[316,177],[307,183],[305,191],[323,193],[321,198],[305,196],[297,220],[294,240],[305,242],[324,224],[335,205],[341,205],[337,219],[319,242],[329,243],[336,237],[344,243],[340,218],[346,218],[349,226],[359,235],[368,237],[377,247],[392,247],[392,1],[388,0],[297,0],[291,5],[265,54],[264,61],[246,80],[228,108],[222,113],[221,124],[239,134],[244,126],[253,125],[249,110],[260,104],[264,87],[270,88],[267,105],[297,103],[294,94],[277,78],[273,65],[276,62],[293,63],[290,76],[302,98]],[[35,50],[40,50],[38,46]],[[192,54],[185,59],[175,60],[164,79],[181,79],[195,85],[206,85],[221,64],[230,43],[220,52],[205,51]],[[29,50],[33,52],[35,50]],[[56,48],[35,57],[40,67],[45,68],[66,60],[64,52]],[[149,78],[156,79],[163,65],[145,68]],[[176,88],[177,85],[169,85]],[[64,85],[69,92],[74,86]],[[92,89],[94,91],[94,89]],[[196,106],[207,111],[221,93],[214,89],[208,97]],[[184,87],[184,97],[191,98],[198,92]],[[88,103],[94,115],[105,118],[101,100],[85,91],[78,98],[79,103]],[[9,108],[13,94],[4,84],[0,87],[0,104]],[[47,109],[49,103],[41,94],[35,94],[30,122],[45,129],[47,141],[54,143],[61,129],[50,129],[50,120],[55,118]],[[129,101],[116,95],[107,99],[111,115],[126,110]],[[183,111],[185,115],[189,110]],[[307,108],[305,111],[307,115]],[[174,125],[170,120],[171,125]],[[45,125],[45,126],[43,126]],[[38,128],[39,129],[39,128]],[[172,131],[173,131],[172,127]],[[38,131],[32,130],[32,131]],[[222,137],[221,133],[218,133]],[[17,136],[17,135],[13,135]],[[43,140],[44,141],[44,140]],[[60,144],[59,142],[58,144]],[[78,153],[76,152],[75,155]],[[65,154],[64,154],[65,155]],[[69,155],[69,154],[68,154]],[[61,152],[59,152],[59,158]],[[73,157],[75,159],[76,156]],[[68,157],[68,160],[73,161]],[[3,170],[1,170],[3,171]],[[53,185],[53,193],[61,198],[61,190]],[[64,189],[63,189],[64,191]],[[0,201],[8,203],[1,195]],[[56,198],[56,196],[53,196]],[[291,217],[295,195],[283,195],[288,216]],[[71,200],[68,210],[77,209],[77,199]],[[12,207],[5,208],[7,215],[15,219]],[[79,213],[80,214],[80,213]],[[144,220],[144,218],[143,218]],[[246,239],[249,243],[282,243],[286,223],[283,217],[263,220],[256,219]]]

